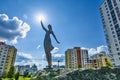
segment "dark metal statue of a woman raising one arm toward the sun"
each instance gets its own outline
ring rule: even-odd
[[[52,57],[51,57],[51,51],[54,49],[52,43],[51,43],[51,38],[50,38],[50,34],[53,35],[54,39],[56,40],[56,42],[59,44],[60,42],[57,40],[54,32],[52,31],[52,26],[49,24],[48,25],[48,29],[46,29],[43,25],[43,22],[41,21],[41,26],[43,28],[43,30],[46,32],[45,34],[45,38],[44,38],[44,50],[46,53],[46,58],[47,58],[47,62],[48,62],[48,67],[51,68],[52,66]]]

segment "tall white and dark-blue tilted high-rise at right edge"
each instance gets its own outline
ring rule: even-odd
[[[120,0],[104,0],[100,13],[112,64],[120,67]]]

